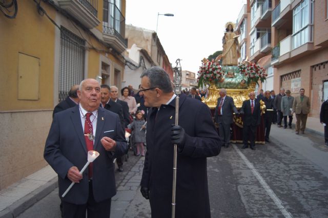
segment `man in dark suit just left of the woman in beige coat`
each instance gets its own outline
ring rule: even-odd
[[[111,100],[122,106],[123,117],[124,117],[124,128],[127,128],[128,125],[130,124],[130,114],[129,114],[128,103],[118,99],[118,88],[116,86],[111,86],[110,91],[111,91],[110,92]],[[123,163],[124,163],[125,155],[126,154],[116,157],[116,164],[118,166],[118,169],[117,169],[118,172],[123,172]]]

